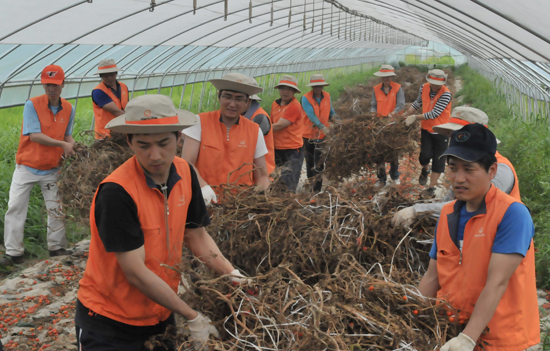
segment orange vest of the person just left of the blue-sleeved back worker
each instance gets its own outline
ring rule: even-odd
[[[277,123],[285,114],[286,109],[290,106],[298,106],[299,110],[297,110],[298,112],[296,113],[299,113],[300,117],[285,129],[273,132],[275,150],[299,149],[304,145],[304,140],[302,139],[304,128],[302,122],[302,105],[300,105],[296,98],[293,98],[290,103],[284,106],[279,105],[277,101],[273,101],[271,105],[271,120],[273,124]]]

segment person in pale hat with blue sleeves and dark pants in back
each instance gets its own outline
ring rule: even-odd
[[[302,96],[307,177],[317,177],[313,183],[313,191],[317,192],[321,191],[323,186],[323,178],[319,175],[324,169],[320,145],[325,140],[332,116],[336,114],[332,108],[330,94],[323,91],[323,88],[329,85],[322,74],[313,74],[307,85],[311,90]]]

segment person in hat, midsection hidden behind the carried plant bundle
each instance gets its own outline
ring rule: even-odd
[[[377,116],[395,118],[405,108],[405,93],[400,84],[392,82],[391,77],[397,77],[391,65],[382,65],[375,76],[380,77],[382,83],[375,85],[372,91],[371,112]],[[386,163],[377,165],[378,181],[376,186],[386,185]],[[390,178],[393,183],[401,184],[399,180],[399,159],[390,161]]]

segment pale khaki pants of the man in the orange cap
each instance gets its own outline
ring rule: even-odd
[[[29,197],[35,184],[42,189],[42,196],[48,212],[48,250],[53,251],[65,247],[67,243],[65,221],[57,196],[58,176],[58,173],[36,175],[25,166],[15,166],[11,180],[8,210],[4,221],[4,246],[8,255],[21,256],[25,251],[23,233],[29,208]]]

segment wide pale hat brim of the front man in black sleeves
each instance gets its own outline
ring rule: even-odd
[[[199,122],[199,117],[192,112],[176,109],[179,123],[177,124],[126,124],[126,115],[118,116],[105,126],[112,132],[124,134],[156,134],[181,132]]]

